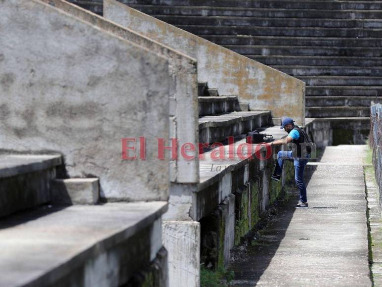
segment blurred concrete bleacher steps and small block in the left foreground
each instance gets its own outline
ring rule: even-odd
[[[59,202],[54,182],[62,163],[57,154],[0,156],[0,286],[120,286],[153,269],[147,262],[166,264],[155,234],[167,202]],[[67,194],[92,196],[87,183],[67,184]],[[161,272],[153,274],[166,277]]]

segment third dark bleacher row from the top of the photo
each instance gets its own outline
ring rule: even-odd
[[[311,18],[257,18],[236,16],[183,16],[152,15],[171,25],[204,26],[265,26],[265,27],[317,27],[317,28],[382,28],[381,19],[311,19]]]

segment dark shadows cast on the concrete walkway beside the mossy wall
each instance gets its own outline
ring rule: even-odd
[[[323,152],[319,154],[317,161],[320,161],[322,154]],[[306,185],[308,185],[313,173],[314,170],[304,173]],[[229,286],[255,286],[269,266],[285,237],[293,214],[296,211],[293,206],[299,199],[299,193],[294,184],[287,188],[287,193],[288,200],[279,208],[268,226],[260,231],[259,238],[251,242],[244,258],[229,264],[228,269],[235,272],[235,279]],[[314,206],[309,208],[336,209],[338,207]]]

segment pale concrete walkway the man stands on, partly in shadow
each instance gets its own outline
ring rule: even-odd
[[[371,286],[363,158],[366,146],[325,149],[305,169],[308,209],[297,192],[233,262],[232,286]]]

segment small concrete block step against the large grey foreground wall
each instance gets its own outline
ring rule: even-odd
[[[54,179],[51,182],[52,204],[95,204],[99,199],[98,178]]]

